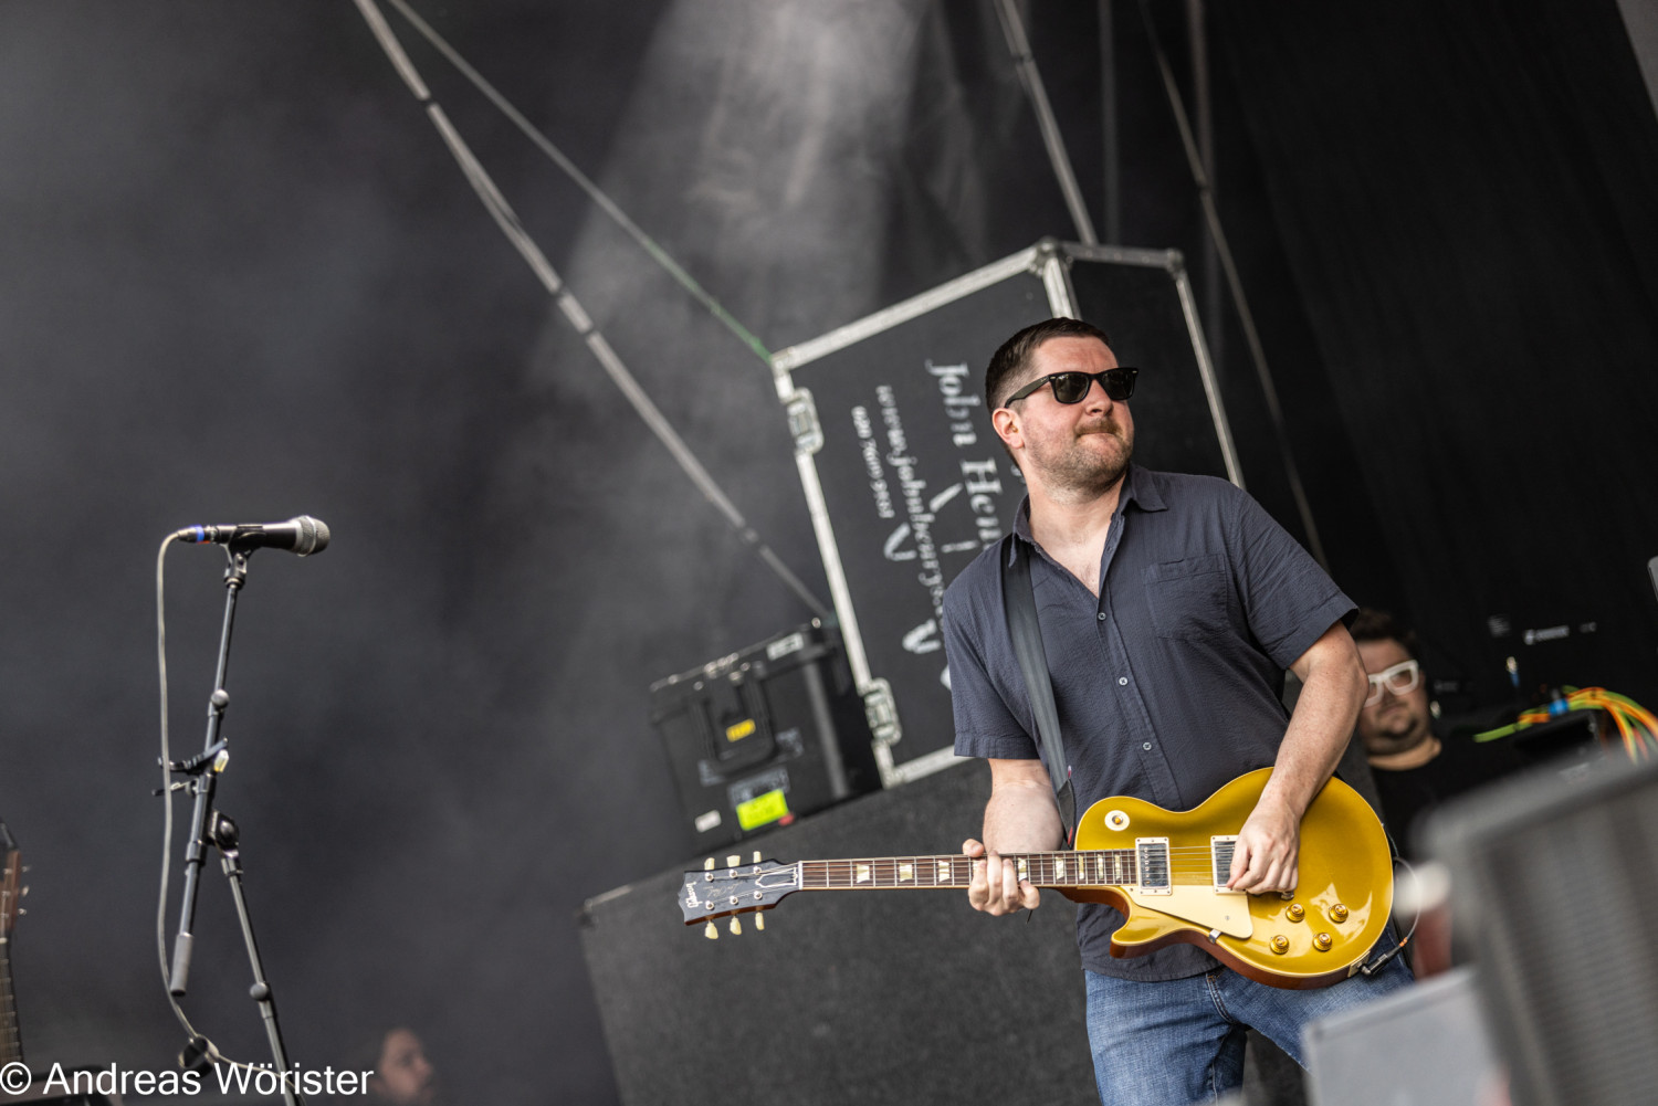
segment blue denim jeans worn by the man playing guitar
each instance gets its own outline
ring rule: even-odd
[[[1302,1028],[1308,1021],[1411,983],[1403,955],[1373,977],[1305,992],[1267,987],[1230,968],[1154,983],[1084,975],[1088,1041],[1104,1106],[1187,1106],[1239,1089],[1245,1028],[1272,1038],[1305,1068]]]

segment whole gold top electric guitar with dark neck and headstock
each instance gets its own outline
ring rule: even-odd
[[[1300,882],[1292,895],[1227,890],[1237,832],[1270,768],[1239,776],[1200,806],[1174,813],[1142,799],[1094,803],[1076,849],[1010,856],[1021,879],[1124,915],[1111,955],[1139,957],[1172,942],[1199,945],[1273,987],[1326,987],[1358,972],[1393,909],[1388,836],[1353,788],[1331,779],[1302,817]],[[960,854],[851,861],[761,861],[686,872],[686,925],[769,910],[796,890],[965,889],[973,861]],[[764,919],[758,919],[764,927]]]

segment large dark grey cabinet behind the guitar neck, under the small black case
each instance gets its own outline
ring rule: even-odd
[[[980,761],[753,837],[749,862],[957,852]],[[725,866],[725,856],[716,857]],[[701,857],[685,871],[701,869]],[[685,871],[590,900],[587,958],[628,1106],[1094,1101],[1074,909],[973,912],[962,892],[797,892],[720,940],[686,927]]]

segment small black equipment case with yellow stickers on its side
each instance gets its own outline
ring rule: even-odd
[[[816,620],[658,680],[650,701],[700,852],[879,786],[862,701]]]

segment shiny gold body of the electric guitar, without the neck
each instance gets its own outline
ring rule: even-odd
[[[1185,942],[1242,975],[1290,988],[1326,987],[1358,970],[1393,910],[1393,856],[1370,804],[1340,779],[1323,786],[1302,819],[1293,897],[1217,889],[1230,864],[1224,839],[1242,829],[1270,774],[1262,768],[1239,776],[1184,813],[1132,798],[1088,808],[1078,819],[1078,852],[1167,841],[1167,890],[1149,892],[1144,882],[1059,889],[1122,912],[1127,920],[1111,935],[1111,955]]]

